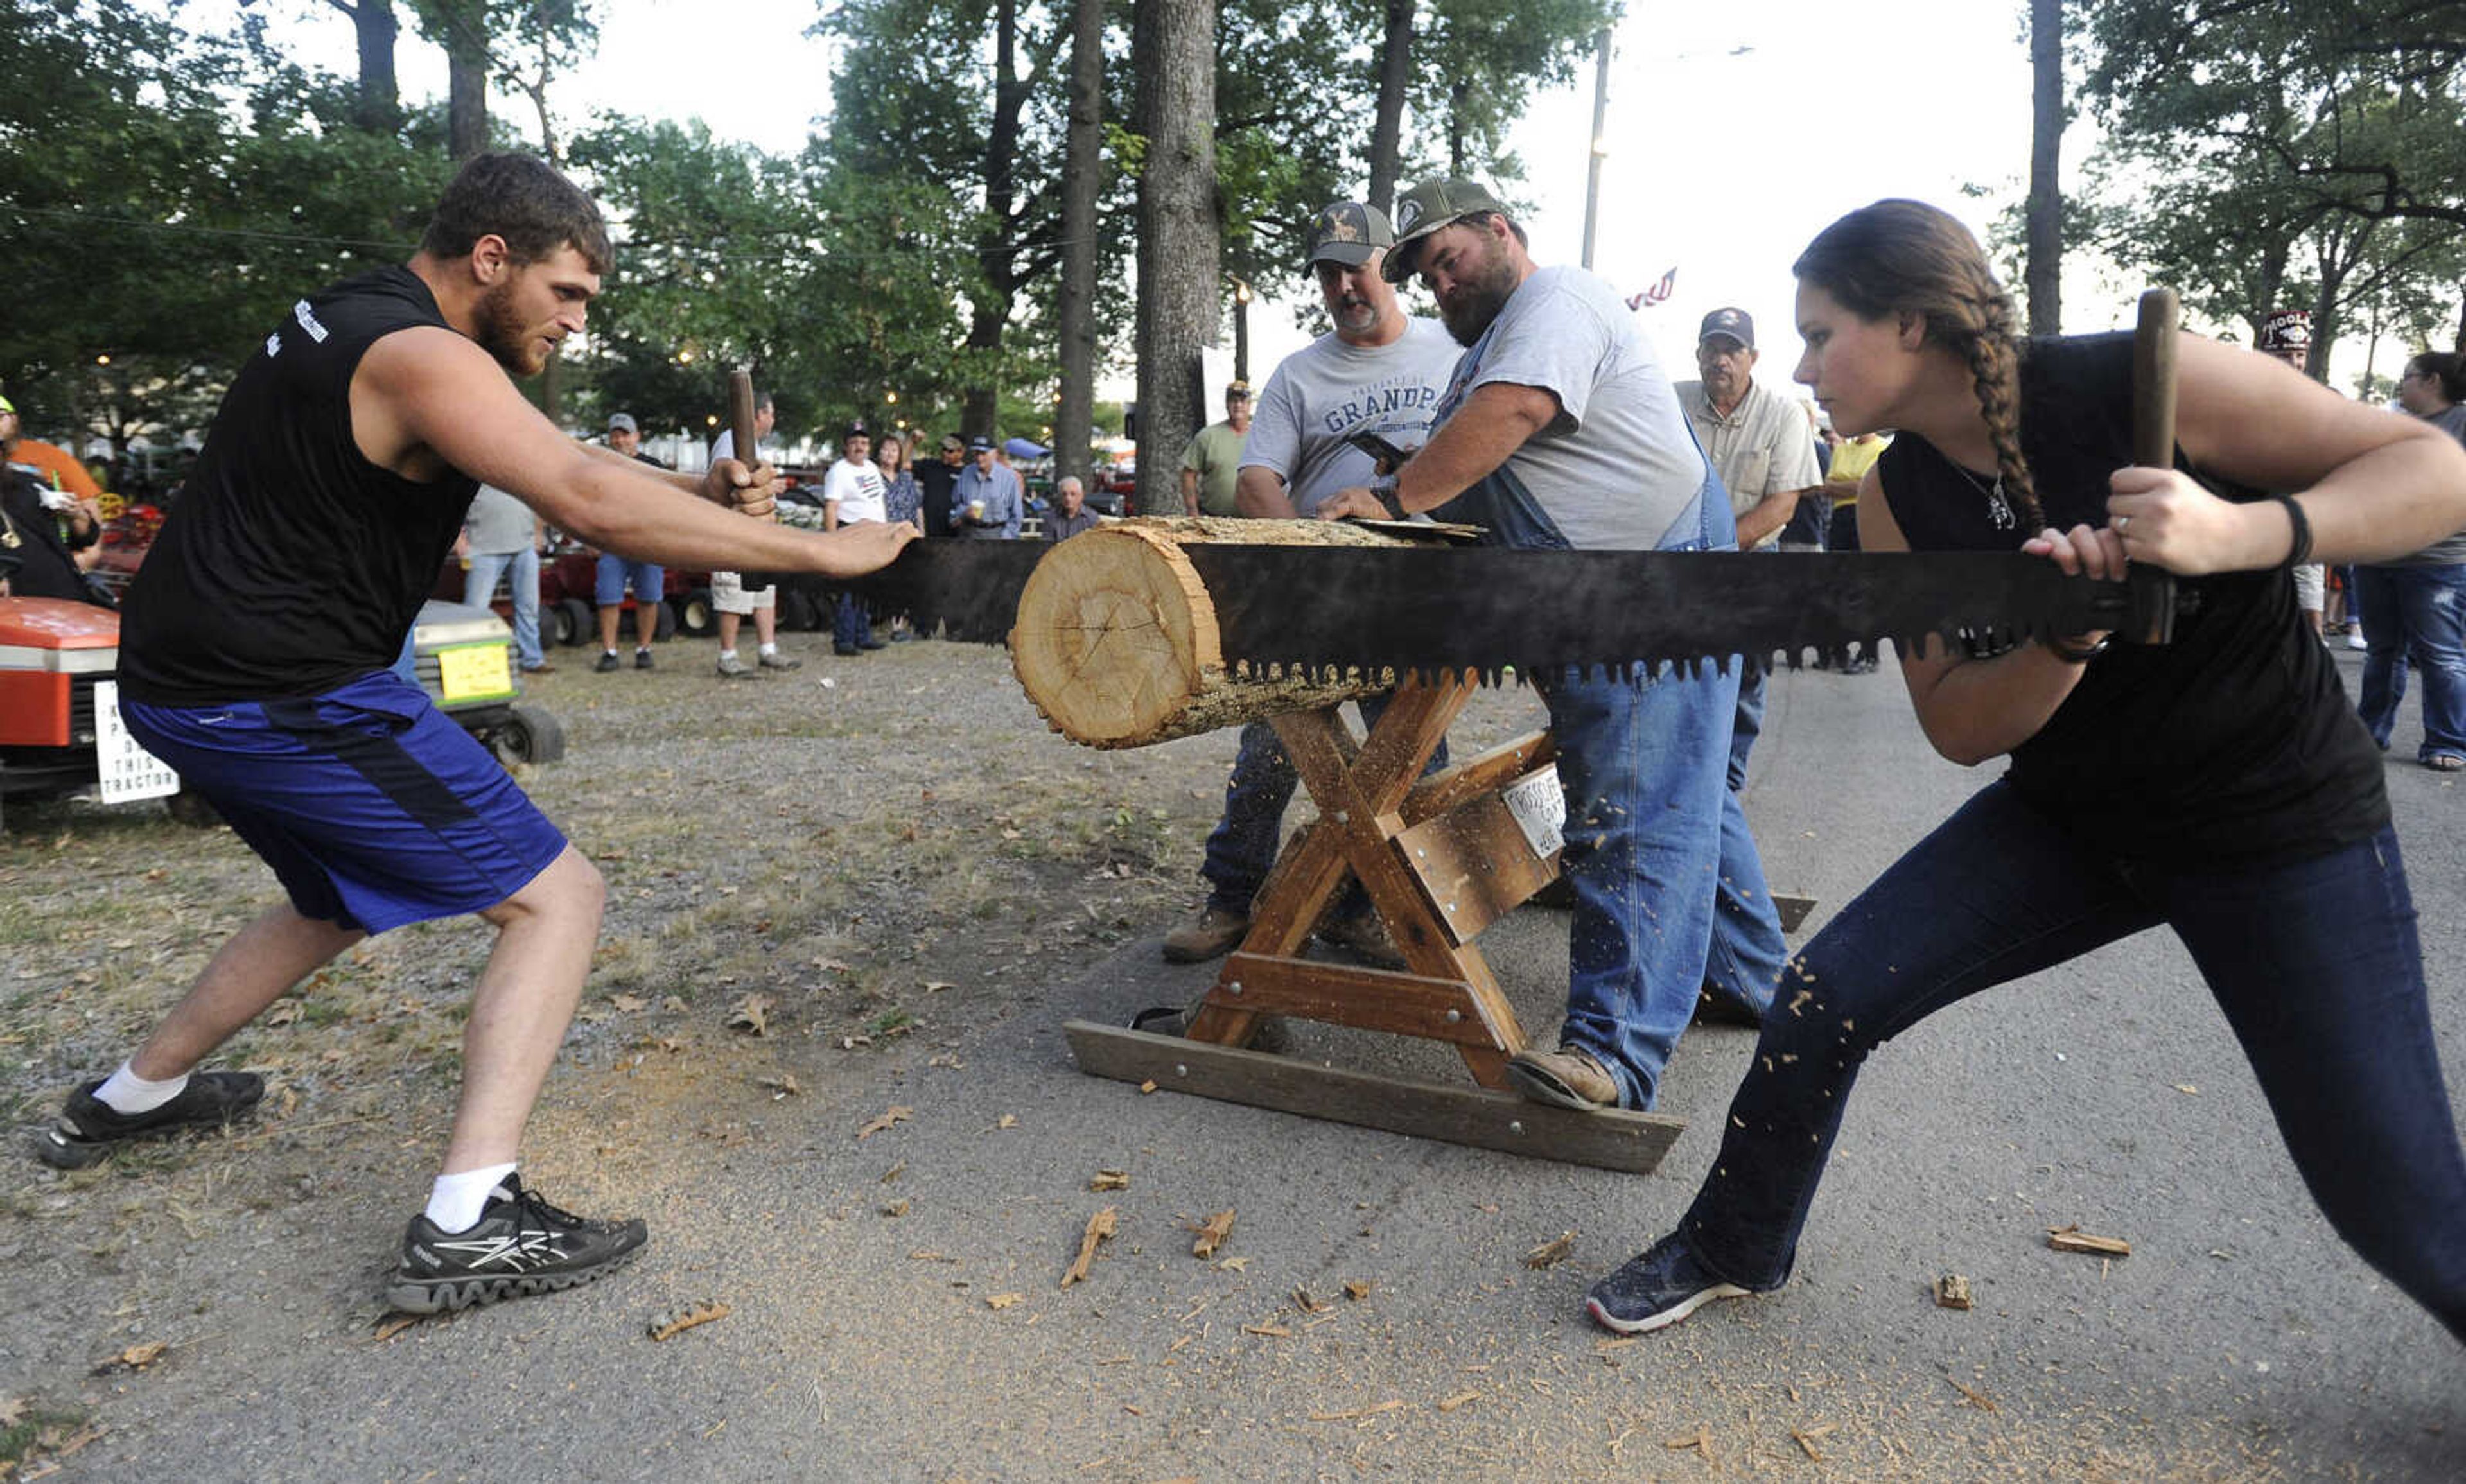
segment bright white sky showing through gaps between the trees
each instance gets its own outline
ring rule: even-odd
[[[212,12],[227,5],[200,0],[187,10],[190,22],[212,25]],[[804,35],[819,15],[816,0],[607,0],[599,10],[599,54],[550,94],[562,131],[604,106],[700,116],[723,138],[792,153],[829,108],[836,42]],[[1642,311],[1674,377],[1694,375],[1702,316],[1736,306],[1756,318],[1758,380],[1790,389],[1800,350],[1790,261],[1815,232],[1852,207],[1909,195],[1985,237],[2027,185],[2022,0],[1628,0],[1628,10],[1610,64],[1593,266],[1623,293],[1677,269],[1669,301]],[[338,71],[355,67],[350,22],[330,7],[286,12],[276,37]],[[681,67],[718,57],[730,62]],[[404,96],[444,94],[444,54],[427,42],[407,35],[397,67]],[[723,76],[730,81],[715,81]],[[530,131],[528,101],[498,96],[493,108]],[[1526,168],[1517,195],[1536,202],[1526,229],[1544,264],[1583,254],[1591,133],[1591,64],[1571,89],[1534,99],[1517,128]],[[2086,148],[2079,133],[2064,160],[2067,185]],[[1963,187],[1988,195],[1968,197]],[[1300,274],[1290,288],[1305,288]],[[2074,261],[2064,328],[2128,325],[2138,288]],[[1418,288],[1408,306],[1428,311]],[[1231,357],[1231,320],[1223,333]],[[1272,301],[1253,306],[1250,335],[1253,380],[1305,343]],[[2345,365],[2350,355],[2360,357],[2360,345],[2340,348],[2340,372],[2360,370]]]

